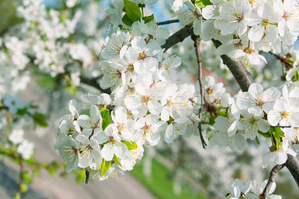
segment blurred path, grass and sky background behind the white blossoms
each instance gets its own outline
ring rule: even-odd
[[[25,0],[24,0],[25,1]],[[13,27],[24,23],[24,19],[18,17],[16,7],[21,0],[0,0],[0,37],[5,38]],[[104,44],[109,30],[109,17],[105,9],[111,7],[110,0],[79,0],[72,8],[67,8],[65,1],[44,0],[47,9],[66,12],[78,17],[75,33],[69,38],[74,42],[83,42],[93,54],[91,68],[98,66],[98,52]],[[156,21],[168,20],[171,17],[170,0],[160,0],[146,7],[145,12],[154,13]],[[79,14],[78,14],[79,15]],[[179,30],[179,23],[165,25],[171,33]],[[231,95],[239,91],[238,85],[232,79],[230,72],[221,64],[220,57],[215,54],[215,48],[209,42],[201,44],[204,76],[213,76],[216,82],[223,82]],[[180,67],[180,81],[195,83],[197,80],[196,56],[193,43],[190,38],[183,43],[168,50],[165,55],[177,54],[182,56]],[[257,82],[263,82],[264,86],[271,86],[279,81],[281,76],[280,64],[272,59],[271,55],[265,55],[268,65],[250,68],[253,78]],[[72,63],[76,67],[76,63]],[[73,65],[70,65],[72,67]],[[1,65],[1,63],[0,63]],[[220,67],[219,67],[220,66]],[[68,109],[71,99],[80,100],[88,92],[99,93],[97,88],[85,84],[84,81],[75,88],[65,80],[62,75],[48,75],[36,64],[30,65],[26,70],[30,72],[31,81],[27,88],[20,92],[22,100],[33,100],[39,108],[45,111],[48,127],[32,127],[28,122],[24,124],[25,138],[34,142],[34,158],[38,162],[53,162],[63,164],[63,159],[53,149],[56,141],[57,128],[61,116]],[[88,69],[89,70],[89,69]],[[90,71],[93,71],[90,69]],[[90,72],[91,73],[91,72]],[[89,72],[86,72],[89,76]],[[220,75],[219,75],[220,74]],[[266,79],[266,82],[264,80]],[[9,132],[1,130],[1,135]],[[207,138],[205,138],[207,140]],[[229,148],[209,146],[203,149],[198,137],[179,136],[172,144],[163,141],[156,147],[146,147],[142,162],[136,164],[133,171],[126,172],[125,177],[98,181],[97,178],[85,184],[85,174],[71,172],[66,174],[64,167],[56,171],[40,169],[30,175],[33,182],[29,184],[29,191],[24,194],[26,199],[220,199],[223,198],[220,190],[227,189],[228,183],[239,178],[244,182],[249,179],[257,179],[260,182],[268,179],[269,168],[261,167],[261,151],[265,151],[263,143],[248,143],[249,150],[231,152]],[[55,164],[56,164],[55,163]],[[0,198],[13,198],[17,189],[18,166],[8,158],[0,156]],[[297,198],[298,188],[289,175],[287,169],[283,169],[276,177],[277,189],[275,194],[282,195],[285,199]]]

